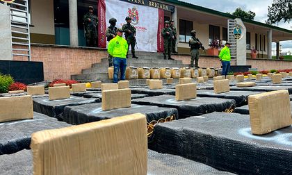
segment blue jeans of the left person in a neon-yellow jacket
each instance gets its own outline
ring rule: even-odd
[[[124,80],[126,78],[126,67],[127,59],[126,58],[113,58],[113,83],[117,83],[119,71],[121,69],[121,78]]]

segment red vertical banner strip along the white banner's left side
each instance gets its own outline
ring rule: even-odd
[[[106,2],[99,0],[97,3],[98,24],[98,47],[106,48]]]

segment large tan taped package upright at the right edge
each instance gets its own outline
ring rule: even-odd
[[[288,90],[254,94],[248,97],[252,133],[263,135],[292,124]]]

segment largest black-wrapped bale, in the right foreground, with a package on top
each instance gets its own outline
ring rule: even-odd
[[[291,133],[252,135],[249,115],[211,113],[157,124],[149,148],[236,174],[289,174]]]

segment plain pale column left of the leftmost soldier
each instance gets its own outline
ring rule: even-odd
[[[69,0],[70,45],[78,46],[77,0]]]

